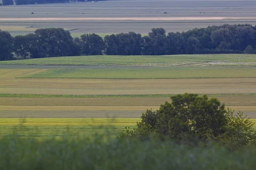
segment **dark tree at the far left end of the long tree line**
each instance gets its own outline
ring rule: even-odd
[[[0,60],[13,58],[13,42],[13,37],[9,32],[0,30]]]

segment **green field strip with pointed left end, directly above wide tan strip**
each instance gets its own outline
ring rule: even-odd
[[[184,79],[256,77],[256,68],[51,69],[22,78]]]

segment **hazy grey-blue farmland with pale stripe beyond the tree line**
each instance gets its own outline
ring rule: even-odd
[[[159,27],[176,32],[225,23],[255,25],[255,9],[256,2],[249,0],[191,0],[186,3],[177,0],[115,0],[0,6],[0,29],[10,31],[13,36],[49,27],[65,28],[74,37],[84,33],[104,36],[128,31],[145,35],[151,28]]]

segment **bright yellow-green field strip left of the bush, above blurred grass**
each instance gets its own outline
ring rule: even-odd
[[[93,135],[106,130],[119,134],[125,126],[136,127],[139,118],[1,118],[0,135]]]

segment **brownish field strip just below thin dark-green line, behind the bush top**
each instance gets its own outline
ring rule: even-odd
[[[171,96],[171,95],[169,95]],[[210,95],[215,96],[215,95]],[[216,96],[225,105],[256,106],[256,96]],[[170,97],[0,97],[0,107],[3,106],[160,106]],[[136,108],[135,107],[135,108]],[[25,107],[26,108],[26,107]],[[35,107],[36,108],[36,107]],[[107,107],[106,107],[107,108]]]

